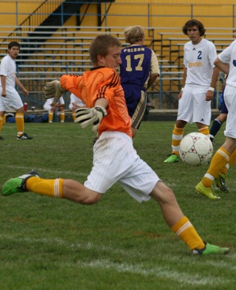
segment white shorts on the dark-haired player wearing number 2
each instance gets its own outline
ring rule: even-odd
[[[187,123],[210,124],[211,101],[206,101],[207,87],[190,87],[185,85],[182,97],[178,101],[177,120]]]

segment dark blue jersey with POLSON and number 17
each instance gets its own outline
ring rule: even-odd
[[[151,70],[152,50],[140,45],[132,45],[121,49],[120,80],[121,86],[132,85],[146,90]]]

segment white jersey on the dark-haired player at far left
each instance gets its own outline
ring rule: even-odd
[[[16,62],[9,55],[1,59],[0,75],[6,77],[6,87],[16,86]]]

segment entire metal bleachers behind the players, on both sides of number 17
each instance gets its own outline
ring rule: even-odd
[[[91,68],[89,44],[98,34],[109,33],[118,37],[122,45],[124,27],[0,27],[0,58],[7,54],[7,43],[18,41],[21,45],[16,59],[17,75],[29,90],[30,104],[42,107],[42,87],[49,80],[58,79],[62,74],[82,74]],[[56,30],[57,28],[57,30]],[[177,32],[178,31],[178,32]],[[177,108],[177,94],[181,88],[183,74],[183,45],[188,38],[181,29],[146,28],[145,45],[153,49],[159,60],[161,75],[148,91],[156,109]],[[209,32],[208,32],[209,31]],[[205,37],[211,40],[218,52],[227,47],[235,36],[232,29],[219,32],[207,29]],[[35,36],[35,34],[37,36]],[[224,37],[223,37],[224,36]],[[226,37],[227,36],[227,37]],[[219,82],[218,91],[221,89]],[[24,95],[22,95],[24,100]],[[66,97],[67,102],[67,97]]]

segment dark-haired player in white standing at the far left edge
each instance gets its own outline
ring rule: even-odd
[[[20,45],[13,41],[8,44],[8,55],[1,59],[0,63],[0,132],[3,123],[3,116],[8,110],[16,110],[17,140],[29,140],[24,133],[24,109],[20,95],[15,86],[17,85],[25,95],[29,95],[27,89],[16,77],[16,62],[20,52]],[[0,140],[3,138],[0,136]]]

